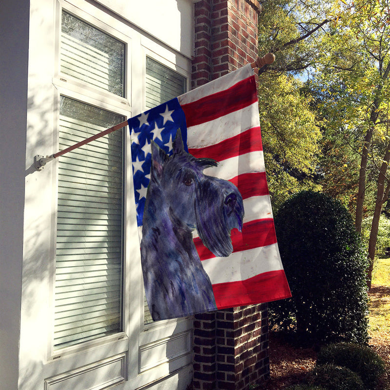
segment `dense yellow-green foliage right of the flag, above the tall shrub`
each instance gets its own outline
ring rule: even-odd
[[[291,194],[318,189],[313,177],[321,133],[301,87],[291,76],[263,75],[259,89],[264,160],[274,210]]]

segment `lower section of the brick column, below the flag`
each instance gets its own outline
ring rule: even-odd
[[[268,305],[195,315],[194,389],[242,390],[270,376]]]

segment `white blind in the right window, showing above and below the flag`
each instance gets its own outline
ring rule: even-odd
[[[153,108],[186,92],[186,78],[172,69],[146,57],[146,107]],[[144,297],[144,323],[153,322]]]

